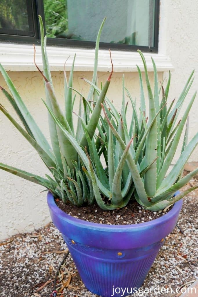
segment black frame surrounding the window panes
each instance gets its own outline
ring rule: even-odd
[[[34,31],[34,36],[22,36],[19,35],[20,31],[15,30],[14,34],[1,34],[0,42],[18,43],[18,44],[40,44],[40,30],[39,30],[39,20],[38,15],[41,15],[44,30],[45,30],[45,13],[43,0],[27,0],[27,3],[31,4],[31,14],[32,22],[31,27]],[[29,5],[29,4],[28,4]],[[28,12],[30,14],[30,11]],[[111,49],[111,50],[122,50],[122,51],[132,51],[135,52],[138,49],[142,52],[153,52],[158,53],[158,41],[159,41],[159,0],[155,0],[155,17],[154,17],[154,46],[140,46],[140,45],[125,45],[118,43],[106,43],[100,42],[100,49]],[[93,49],[95,48],[94,41],[83,41],[83,40],[72,40],[63,38],[49,38],[47,37],[47,45],[60,46],[67,48],[83,48],[83,49]]]

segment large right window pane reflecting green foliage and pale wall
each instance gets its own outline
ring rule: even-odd
[[[44,0],[48,37],[154,45],[154,0]]]

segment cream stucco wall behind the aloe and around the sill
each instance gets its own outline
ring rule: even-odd
[[[172,72],[170,100],[175,97],[178,98],[191,70],[194,68],[195,81],[186,102],[189,102],[198,85],[196,56],[198,32],[195,30],[197,13],[197,1],[195,0],[189,0],[187,3],[182,0],[161,1],[159,52],[168,54],[175,67],[175,71]],[[60,104],[63,105],[63,73],[53,72],[52,74],[57,97]],[[9,72],[9,75],[36,119],[37,124],[49,139],[47,112],[40,99],[45,97],[44,87],[38,72]],[[91,72],[75,72],[74,87],[86,94],[88,86],[80,77],[91,79],[91,75]],[[106,73],[99,72],[99,81],[104,82],[106,78]],[[162,81],[163,78],[166,80],[167,73],[159,73],[159,79]],[[150,73],[150,79],[153,83],[152,72]],[[126,72],[125,84],[133,98],[138,99],[139,82],[137,72]],[[1,76],[0,85],[5,87]],[[114,73],[108,97],[114,101],[118,108],[121,106],[121,85],[122,73]],[[75,104],[76,111],[78,100]],[[0,102],[11,110],[2,94],[0,95]],[[182,111],[184,110],[185,106]],[[198,102],[196,100],[190,113],[189,138],[192,138],[197,130],[197,110]],[[0,162],[44,176],[47,171],[37,153],[23,140],[23,137],[2,114],[0,115],[0,127]],[[198,148],[194,151],[190,160],[197,161],[197,155]],[[0,240],[15,233],[32,231],[34,228],[39,228],[50,221],[46,192],[40,193],[43,190],[42,187],[0,170],[0,189]]]

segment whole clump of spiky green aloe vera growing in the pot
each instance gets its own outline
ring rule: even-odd
[[[64,203],[81,206],[91,205],[96,201],[104,210],[121,208],[126,206],[130,199],[135,198],[144,208],[158,211],[197,188],[198,186],[191,187],[174,197],[174,193],[198,172],[196,169],[182,178],[184,165],[198,143],[198,133],[188,143],[188,114],[196,93],[186,107],[181,120],[178,121],[179,111],[191,87],[194,72],[191,73],[176,104],[173,100],[167,108],[170,72],[166,88],[164,89],[162,85],[159,87],[157,69],[152,59],[154,71],[154,90],[152,91],[145,58],[139,51],[148,91],[148,116],[142,73],[138,66],[139,115],[136,102],[125,88],[124,76],[122,105],[121,110],[118,111],[106,95],[113,73],[113,64],[112,72],[104,86],[101,88],[97,86],[99,39],[104,19],[96,40],[93,78],[92,81],[84,79],[90,85],[88,96],[83,96],[73,88],[74,57],[69,80],[64,71],[65,111],[62,112],[53,89],[41,18],[39,21],[43,73],[37,67],[36,62],[35,65],[45,85],[46,101],[43,100],[43,102],[48,110],[51,146],[1,64],[0,70],[10,93],[2,88],[1,91],[12,104],[24,128],[2,105],[0,105],[0,110],[37,150],[50,171],[50,175],[46,174],[46,178],[43,178],[3,163],[0,163],[0,168],[44,186],[55,197],[61,198]],[[77,94],[80,95],[80,104],[79,113],[75,115],[73,105]],[[128,102],[131,103],[133,109],[130,123],[127,123]],[[76,131],[74,116],[78,117]],[[185,123],[186,131],[180,157],[167,174]]]

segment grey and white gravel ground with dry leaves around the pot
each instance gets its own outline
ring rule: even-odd
[[[194,185],[195,181],[192,180]],[[186,187],[188,187],[187,185]],[[198,279],[198,190],[184,199],[178,227],[166,238],[143,284],[145,288],[172,288],[163,294],[146,293],[134,296],[175,297],[176,288],[190,285]],[[53,290],[56,269],[60,265],[66,244],[53,223],[34,233],[18,234],[0,243],[0,296],[49,297]],[[83,285],[70,255],[61,267],[56,289],[60,297],[96,297]],[[65,288],[62,289],[62,286]],[[40,290],[39,290],[40,289]],[[132,296],[132,295],[131,295]]]

